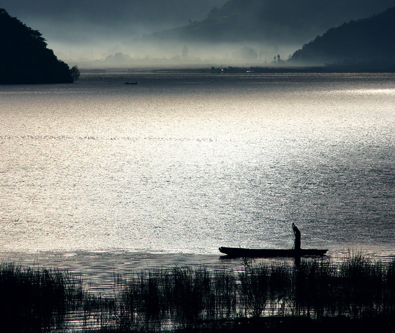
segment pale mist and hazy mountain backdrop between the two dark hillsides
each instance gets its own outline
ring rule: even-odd
[[[0,2],[60,59],[82,68],[268,64],[391,6],[395,0]]]

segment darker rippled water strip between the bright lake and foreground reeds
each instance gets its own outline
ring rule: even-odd
[[[332,259],[342,261],[351,253],[360,252],[368,258],[375,260],[392,260],[395,251],[383,250],[382,247],[369,251],[359,249],[332,249],[325,257],[305,257],[304,259]],[[113,290],[118,274],[123,278],[142,272],[144,270],[171,269],[172,267],[201,267],[207,270],[226,269],[237,272],[243,269],[245,259],[228,258],[218,252],[218,255],[197,254],[155,254],[155,253],[129,253],[129,252],[40,252],[20,253],[2,252],[0,261],[15,263],[22,267],[40,267],[67,269],[69,272],[81,277],[88,290],[108,293]],[[293,258],[254,258],[249,259],[252,264],[279,264],[286,262],[294,266]]]

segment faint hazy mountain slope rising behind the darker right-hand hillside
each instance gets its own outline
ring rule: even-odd
[[[303,44],[331,27],[368,17],[395,0],[229,0],[200,21],[144,37],[145,40]]]

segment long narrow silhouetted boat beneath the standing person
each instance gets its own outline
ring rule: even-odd
[[[233,258],[270,258],[270,257],[301,257],[325,256],[328,250],[321,249],[243,249],[220,247],[219,251]]]

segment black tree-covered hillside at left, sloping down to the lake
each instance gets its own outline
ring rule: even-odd
[[[40,32],[0,9],[0,84],[73,82],[69,66],[46,46]]]

